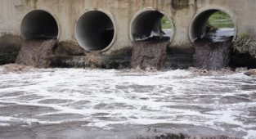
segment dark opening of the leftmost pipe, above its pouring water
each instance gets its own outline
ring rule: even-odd
[[[24,39],[57,38],[59,34],[55,18],[43,10],[30,11],[22,20],[20,31]]]

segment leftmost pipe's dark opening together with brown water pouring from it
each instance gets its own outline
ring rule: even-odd
[[[31,11],[21,24],[24,42],[16,64],[47,68],[51,64],[52,49],[58,36],[58,25],[47,11]]]

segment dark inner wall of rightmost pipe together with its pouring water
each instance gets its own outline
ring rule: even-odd
[[[190,34],[195,44],[194,64],[198,69],[221,70],[228,68],[231,60],[232,39],[235,29],[211,25],[213,14],[226,13],[218,10],[204,11],[193,20]],[[212,30],[209,32],[209,30]]]

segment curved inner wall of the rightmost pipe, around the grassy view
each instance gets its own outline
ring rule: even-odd
[[[190,36],[192,43],[194,43],[195,39],[203,38],[206,35],[205,30],[206,30],[207,22],[209,21],[209,17],[212,16],[217,11],[222,11],[222,10],[218,10],[218,9],[206,10],[194,17],[194,19],[191,22],[190,29],[189,29],[190,30],[189,36]],[[227,12],[225,12],[225,13],[227,14]],[[229,15],[229,14],[227,14],[227,15]],[[227,36],[234,36],[233,40],[235,40],[236,25],[234,22],[233,22],[233,24],[235,26],[234,30],[231,34],[229,34]]]

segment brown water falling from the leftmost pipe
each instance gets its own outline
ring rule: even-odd
[[[52,49],[56,39],[38,38],[22,43],[16,64],[48,68],[51,64]]]

